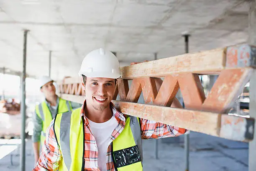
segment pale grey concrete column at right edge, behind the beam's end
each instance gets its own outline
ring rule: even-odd
[[[251,2],[249,10],[249,44],[256,45],[256,0]],[[255,54],[256,55],[256,54]],[[256,69],[252,74],[250,80],[250,116],[256,118]],[[254,128],[256,129],[256,127]],[[255,171],[256,168],[256,130],[254,130],[254,139],[249,143],[249,169],[248,171]]]

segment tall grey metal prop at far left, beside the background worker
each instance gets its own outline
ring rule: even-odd
[[[27,34],[28,30],[24,30],[24,42],[23,42],[23,73],[21,84],[21,148],[20,148],[20,171],[25,171],[25,121],[26,121],[26,51],[27,51]]]

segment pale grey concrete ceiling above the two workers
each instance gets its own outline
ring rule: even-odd
[[[22,71],[28,29],[27,73],[77,76],[84,55],[105,47],[122,65],[248,40],[248,0],[0,0],[0,67]]]

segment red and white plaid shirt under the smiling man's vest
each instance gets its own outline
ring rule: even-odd
[[[92,135],[90,125],[84,115],[84,105],[82,105],[80,115],[84,119],[84,137],[85,137],[85,151],[84,151],[84,171],[100,171],[98,167],[98,151],[95,141],[95,137]],[[113,116],[118,121],[118,126],[110,136],[110,142],[106,155],[106,165],[108,171],[115,171],[110,144],[115,140],[118,135],[123,131],[125,127],[125,115],[118,112],[114,105],[111,103],[110,107],[113,111]],[[57,144],[56,137],[54,135],[54,120],[51,121],[50,126],[46,132],[45,145],[42,147],[40,158],[33,169],[33,171],[57,171],[59,168],[59,162],[62,160],[61,151]],[[170,126],[166,124],[157,123],[155,121],[149,121],[147,119],[141,119],[141,138],[142,139],[158,139],[170,136],[179,136],[186,132],[186,129],[176,126]]]

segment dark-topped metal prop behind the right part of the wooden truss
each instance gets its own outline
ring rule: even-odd
[[[185,53],[189,52],[189,34],[182,35],[185,41]],[[183,102],[184,107],[184,102]],[[189,132],[184,135],[184,149],[185,149],[185,171],[189,171]]]

